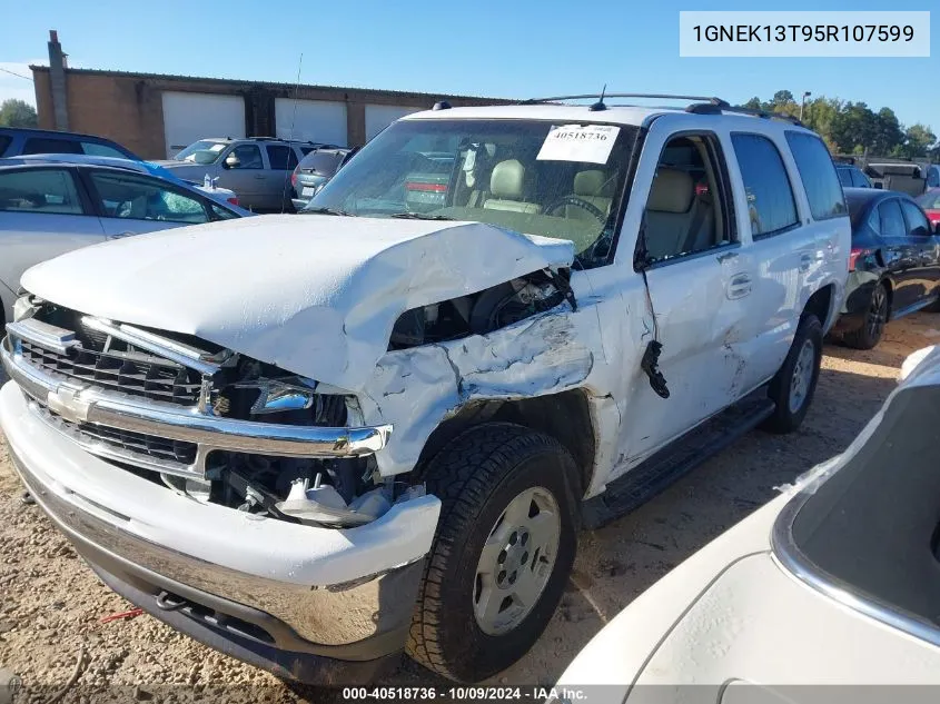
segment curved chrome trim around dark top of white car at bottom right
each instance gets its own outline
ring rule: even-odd
[[[940,645],[940,628],[934,624],[858,593],[851,584],[825,572],[800,551],[793,538],[793,520],[811,496],[812,493],[805,489],[794,496],[773,524],[770,543],[780,566],[807,586],[854,612],[932,645]]]

